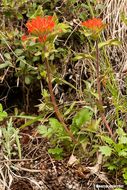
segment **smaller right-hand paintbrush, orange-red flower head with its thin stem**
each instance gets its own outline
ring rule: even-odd
[[[101,96],[101,83],[100,83],[100,62],[99,62],[99,47],[98,47],[98,40],[101,34],[101,31],[105,28],[105,24],[103,24],[100,18],[93,18],[81,23],[83,27],[83,33],[85,36],[92,38],[95,41],[95,49],[96,49],[96,76],[97,76],[97,93],[98,93],[98,109],[100,111],[100,115],[102,118],[103,123],[105,124],[106,128],[109,131],[109,134],[112,136],[112,130],[106,120],[104,109],[103,109],[103,102]]]

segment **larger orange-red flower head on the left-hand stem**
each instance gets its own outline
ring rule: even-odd
[[[26,27],[30,34],[38,37],[38,41],[45,42],[47,35],[50,34],[55,27],[52,16],[36,17],[26,23]]]

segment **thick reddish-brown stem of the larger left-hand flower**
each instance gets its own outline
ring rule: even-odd
[[[59,120],[59,121],[61,122],[61,124],[63,125],[65,131],[68,133],[68,135],[69,135],[70,138],[72,139],[72,141],[73,141],[75,144],[77,144],[77,140],[74,138],[72,132],[68,129],[67,125],[65,124],[64,119],[63,119],[63,116],[62,116],[62,114],[60,113],[59,108],[58,108],[58,106],[57,106],[56,99],[55,99],[55,96],[54,96],[54,93],[53,93],[52,82],[51,82],[50,66],[49,66],[49,62],[48,62],[48,59],[47,59],[47,58],[46,58],[46,60],[45,60],[45,65],[46,65],[46,70],[47,70],[49,93],[50,93],[50,96],[51,96],[51,101],[52,101],[52,104],[53,104],[53,107],[54,107],[55,114],[56,114],[58,120]]]

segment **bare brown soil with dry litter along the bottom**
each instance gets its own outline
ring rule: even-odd
[[[22,159],[16,160],[14,156],[8,163],[3,160],[4,172],[8,171],[7,185],[11,184],[6,190],[96,190],[97,184],[115,184],[112,176],[107,178],[106,173],[100,179],[99,173],[85,171],[91,165],[89,158],[84,158],[80,164],[68,166],[70,155],[56,160],[48,154],[51,145],[46,139],[38,135],[33,137],[32,133],[28,138],[26,135],[26,132],[25,136],[21,133]],[[118,183],[121,184],[120,181]]]

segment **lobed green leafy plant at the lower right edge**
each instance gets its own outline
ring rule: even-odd
[[[107,158],[105,166],[109,170],[122,170],[124,182],[127,184],[127,134],[122,128],[118,128],[116,133],[116,141],[108,136],[101,136],[106,145],[100,146],[99,151]]]

